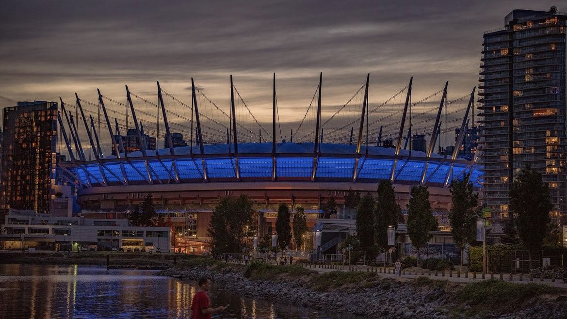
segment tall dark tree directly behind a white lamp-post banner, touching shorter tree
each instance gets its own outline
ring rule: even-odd
[[[386,252],[388,249],[388,226],[397,228],[401,209],[396,203],[396,193],[390,180],[380,180],[376,190],[376,205],[374,206],[374,233],[378,249]]]

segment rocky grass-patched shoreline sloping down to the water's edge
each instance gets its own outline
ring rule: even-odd
[[[366,318],[565,318],[567,297],[535,297],[522,304],[503,305],[506,309],[490,312],[486,307],[471,307],[459,303],[451,294],[451,287],[420,286],[412,281],[400,282],[380,279],[373,284],[341,287],[319,292],[310,287],[304,277],[278,278],[276,280],[251,280],[245,276],[242,266],[197,266],[172,268],[161,275],[196,280],[210,277],[243,296],[307,307],[337,313],[349,313]],[[282,280],[283,279],[283,280]],[[458,289],[458,284],[450,284]],[[497,314],[500,313],[500,314]]]

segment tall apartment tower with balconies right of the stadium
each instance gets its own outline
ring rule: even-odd
[[[514,177],[529,164],[549,185],[552,220],[567,216],[565,13],[514,10],[484,33],[479,109],[484,202],[507,218]]]

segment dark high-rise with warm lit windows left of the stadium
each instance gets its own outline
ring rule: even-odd
[[[4,108],[0,209],[50,211],[55,196],[57,103]]]

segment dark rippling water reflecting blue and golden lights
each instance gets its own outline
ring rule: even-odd
[[[0,318],[188,318],[196,283],[154,273],[0,265]],[[230,304],[213,318],[356,318],[239,296],[214,283],[209,297],[213,307]]]

